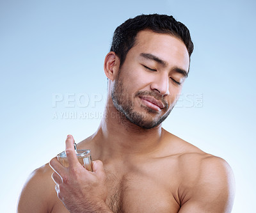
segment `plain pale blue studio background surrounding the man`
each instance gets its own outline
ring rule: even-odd
[[[119,24],[141,13],[173,15],[188,26],[195,44],[179,105],[163,127],[228,161],[236,177],[232,212],[253,212],[255,6],[249,0],[1,0],[0,212],[15,212],[29,173],[63,150],[67,134],[78,142],[97,129],[100,118],[67,113],[102,112],[103,61],[111,36]],[[63,101],[53,107],[57,93]],[[75,97],[68,103],[70,93]],[[86,95],[88,106],[78,106],[86,103]],[[93,102],[94,97],[102,99]]]

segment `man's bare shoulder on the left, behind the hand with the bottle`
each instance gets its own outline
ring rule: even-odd
[[[20,193],[17,212],[51,212],[56,200],[52,172],[49,164],[45,164],[31,173]]]

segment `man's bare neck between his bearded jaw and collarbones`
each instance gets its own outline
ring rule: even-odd
[[[107,104],[104,117],[93,138],[102,160],[109,155],[112,158],[127,159],[129,156],[154,152],[159,148],[162,133],[161,125],[152,129],[138,127],[113,105]]]

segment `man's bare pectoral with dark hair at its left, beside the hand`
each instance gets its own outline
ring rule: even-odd
[[[179,204],[165,181],[143,173],[125,175],[107,181],[109,208],[121,212],[178,212]]]

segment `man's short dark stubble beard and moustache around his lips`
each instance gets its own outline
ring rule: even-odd
[[[157,100],[159,100],[159,97],[156,97],[156,93],[153,93],[151,91],[138,91],[134,95],[134,98],[139,97],[140,95],[150,95],[156,98]],[[111,97],[117,111],[124,114],[125,118],[129,120],[129,122],[134,123],[135,125],[138,125],[143,129],[152,129],[157,125],[159,125],[160,123],[162,123],[168,117],[173,107],[175,106],[175,104],[172,104],[170,109],[168,109],[168,103],[164,99],[160,99],[164,103],[164,108],[161,110],[166,112],[163,116],[150,118],[151,117],[150,115],[154,116],[155,114],[157,116],[157,112],[154,111],[153,109],[150,109],[149,107],[145,107],[149,116],[147,116],[147,113],[136,112],[134,110],[134,104],[132,100],[129,98],[129,94],[124,88],[124,82],[122,81],[122,79],[120,79],[119,76],[117,77],[113,85],[113,89],[111,91]],[[141,107],[144,107],[144,106],[141,106]]]

